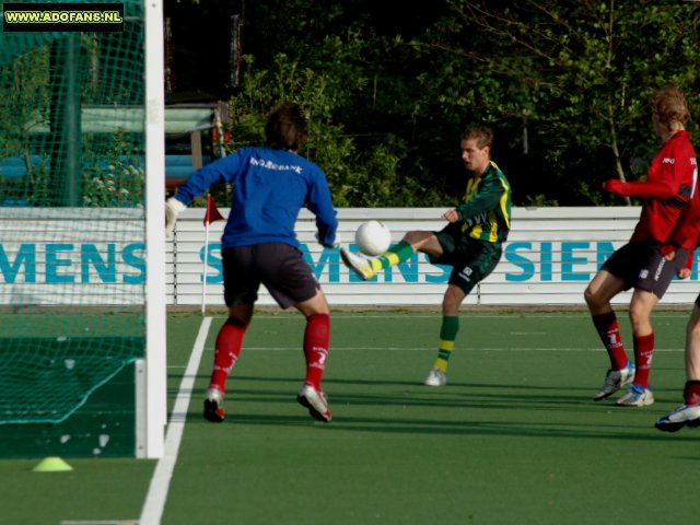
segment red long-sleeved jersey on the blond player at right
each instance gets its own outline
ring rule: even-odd
[[[698,164],[690,133],[676,132],[652,160],[646,182],[628,183],[626,194],[645,198],[630,242],[666,242],[678,218],[695,197]]]

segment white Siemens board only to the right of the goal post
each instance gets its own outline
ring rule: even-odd
[[[220,210],[228,217],[228,210]],[[440,230],[444,209],[383,208],[339,209],[339,231],[345,244],[353,243],[355,229],[376,219],[398,241],[410,230]],[[630,237],[639,208],[514,208],[512,230],[503,256],[493,273],[466,299],[482,305],[582,305],[583,291],[599,266]],[[205,261],[203,210],[188,209],[168,243],[167,298],[173,305],[201,305]],[[223,306],[219,238],[223,221],[210,225],[207,257],[206,302]],[[361,281],[340,261],[338,249],[323,248],[314,237],[314,217],[306,210],[296,228],[304,257],[320,282],[331,305],[416,306],[442,302],[450,268],[430,264],[423,254],[385,270],[372,281]],[[665,304],[690,305],[700,292],[698,267],[688,280],[676,280],[663,299]],[[630,294],[616,298],[629,303]],[[273,305],[266,290],[260,305]]]

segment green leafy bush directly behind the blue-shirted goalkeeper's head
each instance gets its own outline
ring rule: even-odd
[[[336,206],[418,206],[417,197],[430,196],[431,191],[400,178],[405,142],[385,135],[360,150],[355,138],[334,119],[350,106],[353,92],[368,85],[361,71],[351,75],[341,71],[343,63],[351,62],[358,45],[353,33],[348,33],[348,40],[326,37],[316,51],[320,60],[316,69],[278,54],[270,69],[255,70],[255,59],[246,57],[248,73],[241,92],[231,100],[236,138],[233,145],[264,143],[267,114],[279,103],[292,101],[304,108],[310,122],[308,141],[301,153],[326,172]]]

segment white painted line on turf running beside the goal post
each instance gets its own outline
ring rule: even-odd
[[[177,399],[175,399],[173,415],[171,416],[171,422],[167,425],[167,433],[165,434],[165,452],[155,466],[149,492],[145,497],[143,509],[141,510],[139,523],[143,525],[158,525],[163,517],[163,509],[165,508],[165,500],[167,499],[167,491],[171,486],[171,478],[173,477],[173,470],[177,462],[177,453],[187,420],[187,407],[189,406],[195,378],[197,377],[197,370],[199,370],[199,362],[201,361],[210,326],[211,317],[205,317],[199,327],[199,334],[197,335],[192,353],[189,357],[185,375],[183,375],[183,381],[179,384],[179,392]]]

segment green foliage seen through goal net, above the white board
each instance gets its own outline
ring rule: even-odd
[[[66,80],[68,72],[60,70],[50,58],[54,45],[62,44],[67,36],[40,35],[40,38],[33,34],[18,36],[11,47],[11,59],[0,67],[0,161],[23,160],[20,163],[24,168],[20,176],[0,177],[0,202],[65,206],[67,199],[61,192],[71,191],[71,206],[77,205],[75,196],[82,198],[85,207],[143,206],[142,133],[89,131],[83,126],[79,152],[71,159],[82,163],[82,172],[63,173],[68,171],[57,167],[61,165],[59,152],[65,151],[67,139],[57,130],[61,121],[57,117],[59,112],[51,109],[58,108],[58,86],[73,84]],[[82,33],[79,39],[72,40],[79,49],[79,59],[71,62],[74,86],[75,91],[80,90],[83,107],[142,104],[138,51],[125,52],[132,62],[120,57],[118,70],[114,62],[107,63],[107,58],[116,52],[116,39],[121,42],[121,34]],[[128,38],[124,42],[133,45],[131,50],[139,49],[138,43]],[[71,109],[80,110],[80,107],[71,105]],[[75,117],[81,120],[84,113]],[[51,170],[61,173],[51,173]],[[77,188],[67,189],[68,177],[80,177]],[[71,178],[70,183],[73,182]]]

